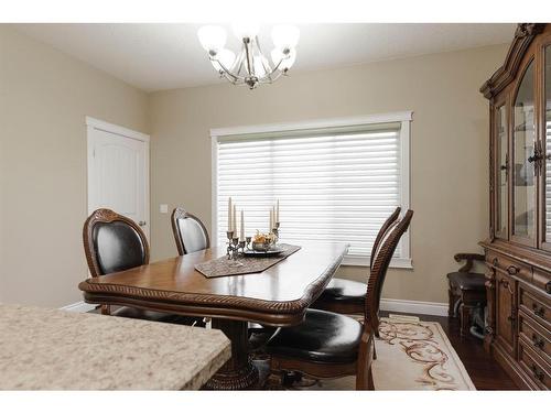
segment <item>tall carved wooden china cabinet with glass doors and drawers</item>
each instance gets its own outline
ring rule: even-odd
[[[489,99],[485,347],[525,389],[551,389],[551,23],[519,24]]]

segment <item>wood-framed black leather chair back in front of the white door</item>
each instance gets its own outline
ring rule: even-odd
[[[83,237],[93,276],[149,262],[149,246],[141,228],[110,209],[94,211],[84,225]]]

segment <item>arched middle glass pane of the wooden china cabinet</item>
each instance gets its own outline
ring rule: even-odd
[[[536,128],[533,61],[525,72],[515,98],[512,236],[517,241],[534,244],[536,218]]]

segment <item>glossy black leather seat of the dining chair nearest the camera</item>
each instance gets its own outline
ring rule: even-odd
[[[363,326],[345,315],[307,309],[304,322],[284,327],[268,341],[270,355],[327,363],[352,363],[358,356]]]

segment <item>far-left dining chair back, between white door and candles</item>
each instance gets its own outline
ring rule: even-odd
[[[210,247],[208,232],[195,215],[184,208],[174,208],[171,215],[172,232],[180,256],[205,250]]]

